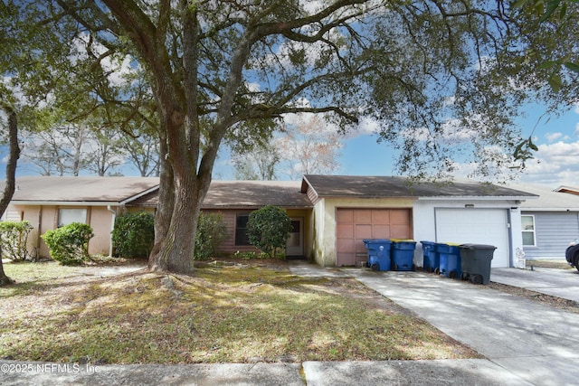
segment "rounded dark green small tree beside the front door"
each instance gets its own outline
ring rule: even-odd
[[[285,248],[291,231],[291,219],[281,208],[267,205],[250,214],[247,236],[253,246],[271,258],[276,250]]]

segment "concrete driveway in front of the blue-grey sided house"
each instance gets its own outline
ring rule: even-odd
[[[579,302],[579,271],[555,268],[492,268],[490,280]]]

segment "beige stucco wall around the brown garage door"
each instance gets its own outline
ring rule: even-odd
[[[336,212],[338,208],[412,208],[412,199],[325,198],[312,216],[313,257],[322,267],[336,266]]]

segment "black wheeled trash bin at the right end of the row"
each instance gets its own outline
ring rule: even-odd
[[[490,283],[490,263],[495,253],[494,245],[484,244],[461,244],[460,278],[470,280],[474,284]]]

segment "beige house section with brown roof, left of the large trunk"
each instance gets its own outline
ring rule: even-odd
[[[90,254],[109,255],[115,216],[127,202],[157,189],[158,178],[150,177],[17,177],[5,220],[30,221],[28,245],[34,257],[50,255],[40,237],[44,232],[71,222],[92,228]]]

